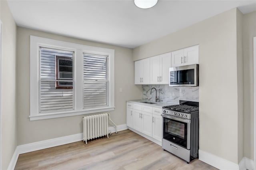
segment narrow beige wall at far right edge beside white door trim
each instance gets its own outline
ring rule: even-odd
[[[256,37],[256,12],[243,16],[244,54],[244,156],[253,160],[253,37]]]

